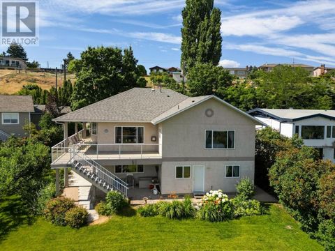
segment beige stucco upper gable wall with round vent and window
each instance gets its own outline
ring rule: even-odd
[[[206,109],[214,111],[211,118]],[[255,155],[255,122],[213,99],[163,122],[162,130],[163,158]],[[205,149],[205,130],[235,130],[235,149]]]

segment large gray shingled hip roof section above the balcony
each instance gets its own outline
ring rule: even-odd
[[[169,89],[133,88],[87,107],[77,109],[54,121],[67,122],[151,122],[188,97]]]

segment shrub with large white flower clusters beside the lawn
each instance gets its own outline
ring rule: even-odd
[[[234,208],[222,190],[207,192],[200,202],[198,217],[210,222],[221,222],[234,216]]]

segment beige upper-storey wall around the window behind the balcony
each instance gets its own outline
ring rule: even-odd
[[[98,144],[115,144],[115,126],[144,126],[144,144],[158,144],[158,126],[152,123],[98,123],[98,135],[92,135],[92,139]],[[105,132],[107,130],[107,132]],[[151,142],[151,136],[156,136],[156,142]],[[140,146],[126,146],[129,151],[138,151]],[[112,146],[99,147],[99,151],[115,151]],[[118,149],[118,148],[117,148]],[[143,151],[156,151],[158,146],[142,146]]]

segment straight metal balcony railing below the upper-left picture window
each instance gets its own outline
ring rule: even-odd
[[[80,144],[85,147],[85,154],[96,156],[96,159],[132,159],[159,158],[160,144]]]

